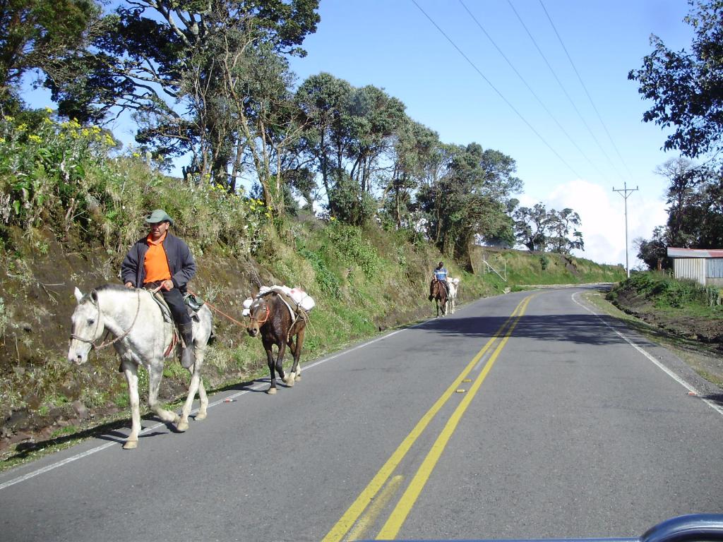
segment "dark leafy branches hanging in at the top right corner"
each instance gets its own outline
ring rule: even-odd
[[[696,158],[723,150],[723,1],[690,4],[693,9],[685,22],[696,32],[691,52],[671,51],[651,35],[654,51],[628,79],[637,81],[638,91],[654,102],[643,121],[674,126],[665,149]]]

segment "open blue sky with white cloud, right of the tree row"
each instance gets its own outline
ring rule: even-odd
[[[572,207],[583,220],[580,255],[624,264],[624,201],[612,189],[638,186],[628,237],[649,238],[666,216],[666,184],[654,169],[677,156],[661,150],[666,132],[641,121],[651,104],[628,72],[651,52],[651,33],[690,49],[688,8],[683,0],[321,0],[308,55],[291,67],[299,82],[329,72],[382,87],[442,141],[505,152],[524,181],[524,205]]]

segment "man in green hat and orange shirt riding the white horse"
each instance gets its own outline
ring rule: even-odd
[[[193,324],[184,296],[188,281],[196,274],[196,262],[188,245],[168,232],[174,221],[166,211],[156,209],[145,221],[150,233],[128,251],[121,264],[121,279],[128,288],[160,288],[185,343],[181,365],[189,369],[195,361]]]

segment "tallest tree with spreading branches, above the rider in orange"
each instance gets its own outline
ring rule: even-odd
[[[191,151],[190,170],[227,184],[228,164],[239,167],[239,157],[253,156],[254,139],[273,132],[268,117],[258,123],[259,111],[288,82],[281,57],[305,54],[299,46],[316,29],[317,7],[318,0],[134,0],[105,18],[106,33],[66,66],[67,77],[47,85],[61,113],[82,120],[134,111],[139,142],[166,155]],[[273,80],[262,79],[265,71]],[[245,129],[236,124],[244,118]],[[288,130],[275,134],[283,139]]]

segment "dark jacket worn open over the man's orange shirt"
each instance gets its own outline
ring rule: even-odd
[[[166,232],[163,239],[163,250],[166,251],[168,269],[171,270],[171,280],[174,288],[181,293],[186,293],[186,284],[196,274],[196,262],[191,256],[188,245],[178,237]],[[123,283],[133,283],[136,288],[141,288],[145,280],[145,253],[148,251],[146,238],[139,239],[131,247],[121,264],[121,280]]]

